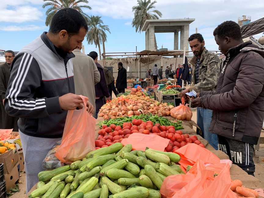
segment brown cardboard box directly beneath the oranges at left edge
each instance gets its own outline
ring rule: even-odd
[[[18,162],[18,153],[14,150],[11,149],[0,155],[0,163],[4,163],[4,174],[10,173]]]

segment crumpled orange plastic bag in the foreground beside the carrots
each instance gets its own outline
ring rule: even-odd
[[[229,164],[204,166],[204,161],[198,160],[186,175],[166,177],[160,193],[167,198],[236,198],[230,186]]]

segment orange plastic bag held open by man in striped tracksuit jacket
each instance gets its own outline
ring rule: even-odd
[[[80,97],[86,104],[88,98]],[[86,111],[85,107],[80,110],[68,111],[62,141],[55,156],[61,162],[70,164],[95,150],[95,123],[96,119]]]

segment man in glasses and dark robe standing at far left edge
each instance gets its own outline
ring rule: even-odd
[[[18,118],[9,116],[4,106],[5,93],[11,74],[10,66],[14,57],[15,53],[12,50],[5,51],[5,63],[0,65],[0,129],[13,129],[13,131],[18,131]]]

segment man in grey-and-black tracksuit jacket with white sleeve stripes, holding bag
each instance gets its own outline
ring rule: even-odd
[[[61,9],[53,16],[49,32],[20,50],[11,64],[5,110],[19,117],[27,193],[38,182],[47,153],[62,138],[67,110],[83,107],[81,97],[74,94],[71,58],[87,30],[78,11]],[[93,113],[91,103],[86,106]]]

